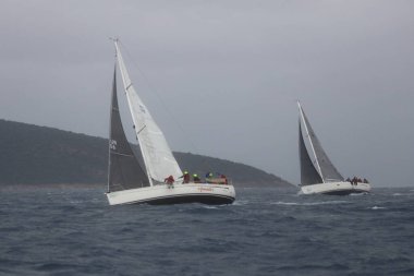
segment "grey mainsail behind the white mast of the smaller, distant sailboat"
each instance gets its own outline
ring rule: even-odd
[[[337,168],[333,166],[328,155],[325,153],[303,109],[302,109],[302,115],[305,120],[305,124],[307,127],[307,132],[309,134],[310,143],[313,144],[314,149],[315,149],[317,161],[319,163],[324,182],[343,181],[343,177],[341,176],[341,173],[338,172]]]

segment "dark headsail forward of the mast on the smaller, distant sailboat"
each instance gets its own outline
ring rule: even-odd
[[[312,185],[322,183],[322,179],[319,172],[316,170],[314,163],[312,161],[303,137],[301,120],[299,121],[299,157],[301,161],[301,183],[302,185]]]

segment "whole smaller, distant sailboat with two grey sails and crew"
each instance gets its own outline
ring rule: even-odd
[[[369,192],[369,183],[344,181],[341,173],[339,173],[321,147],[321,144],[299,101],[297,107],[300,112],[299,147],[301,161],[301,192],[303,194],[321,193],[333,195]],[[308,145],[307,147],[306,144]]]

